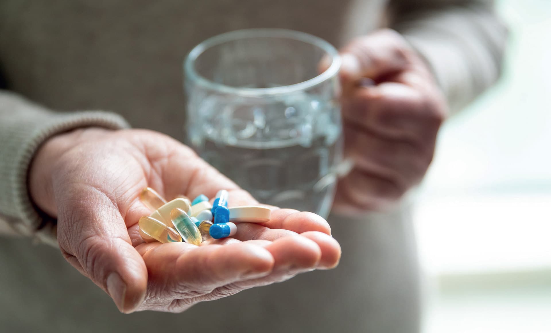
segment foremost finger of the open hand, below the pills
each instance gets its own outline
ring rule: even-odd
[[[267,275],[274,265],[268,250],[242,242],[201,247],[151,243],[137,249],[148,267],[153,298],[197,296],[236,280]]]

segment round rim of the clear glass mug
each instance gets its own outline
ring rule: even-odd
[[[236,41],[251,37],[279,37],[309,43],[310,45],[319,47],[321,50],[329,54],[329,56],[332,57],[332,62],[331,65],[329,65],[329,67],[324,72],[316,75],[311,79],[295,84],[271,88],[240,88],[221,83],[215,83],[203,77],[202,75],[199,75],[199,73],[197,73],[197,71],[195,70],[194,64],[197,58],[210,47],[217,46],[229,41]],[[225,32],[224,34],[216,35],[214,37],[210,37],[209,39],[204,40],[203,42],[195,46],[190,51],[190,53],[188,53],[183,64],[186,79],[191,79],[195,84],[201,85],[209,90],[215,90],[226,94],[241,96],[283,95],[291,94],[296,91],[307,90],[337,75],[339,68],[341,68],[341,57],[339,56],[337,49],[334,48],[331,43],[321,39],[320,37],[307,34],[306,32],[271,28],[235,30]]]

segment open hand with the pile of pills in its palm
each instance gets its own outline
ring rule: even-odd
[[[67,261],[125,313],[181,312],[333,268],[341,255],[320,216],[273,208],[253,217],[258,203],[249,193],[148,130],[87,128],[48,139],[31,165],[29,192],[57,218]],[[217,211],[221,223],[213,223]]]

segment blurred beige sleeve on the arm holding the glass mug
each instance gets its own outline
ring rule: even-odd
[[[501,73],[507,29],[493,0],[391,0],[390,27],[426,59],[452,111]]]

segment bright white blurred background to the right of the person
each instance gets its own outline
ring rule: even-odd
[[[415,211],[425,333],[551,332],[551,1],[496,3],[503,78],[442,129]]]

